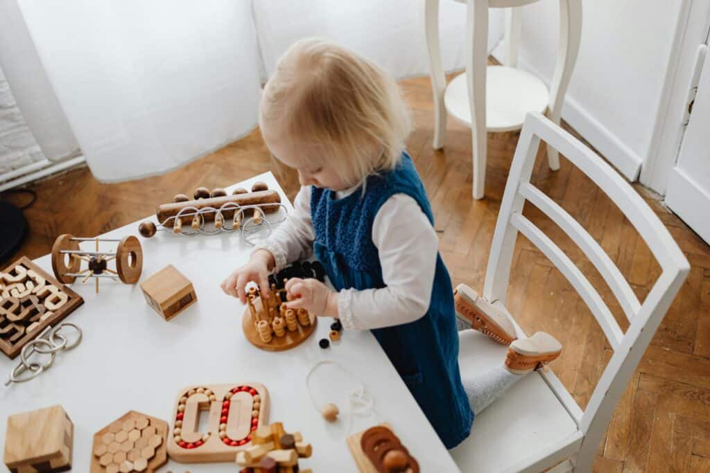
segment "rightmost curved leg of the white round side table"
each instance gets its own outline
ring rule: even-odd
[[[547,116],[559,125],[562,116],[564,94],[572,78],[574,64],[577,62],[581,39],[581,0],[559,1],[559,45],[557,46],[557,65],[550,87],[550,106]],[[550,169],[559,169],[559,154],[555,148],[547,145],[547,162]]]

